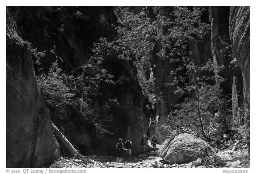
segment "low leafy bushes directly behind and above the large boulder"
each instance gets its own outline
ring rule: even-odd
[[[226,133],[223,106],[227,102],[223,96],[223,91],[218,85],[205,85],[199,91],[200,112],[205,131],[209,133],[218,130],[218,134],[223,135]],[[218,114],[215,114],[217,111],[219,111]],[[170,131],[186,127],[200,132],[196,99],[187,97],[184,102],[176,104],[174,111],[165,120],[165,124],[160,127],[168,128]]]

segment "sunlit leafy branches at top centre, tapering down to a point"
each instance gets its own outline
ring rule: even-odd
[[[150,52],[154,47],[156,25],[149,19],[142,8],[140,12],[129,12],[128,8],[118,7],[115,10],[118,26],[117,35],[113,39],[100,38],[94,43],[93,55],[103,60],[118,57],[132,63],[138,71],[137,77],[145,96],[152,94],[153,81],[149,79]]]

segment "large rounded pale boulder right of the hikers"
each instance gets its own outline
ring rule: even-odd
[[[158,150],[158,155],[169,164],[191,162],[215,150],[204,140],[188,133],[173,133]]]

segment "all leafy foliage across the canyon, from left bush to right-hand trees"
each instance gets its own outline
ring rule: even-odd
[[[223,79],[218,75],[223,67],[214,65],[209,58],[204,58],[203,63],[196,62],[188,48],[190,41],[196,40],[200,43],[209,36],[209,24],[200,19],[202,12],[203,10],[198,8],[190,10],[181,6],[156,6],[150,15],[145,8],[141,8],[137,13],[128,8],[116,8],[119,25],[113,27],[117,34],[112,39],[100,38],[99,42],[93,44],[90,60],[86,65],[79,67],[83,73],[68,77],[55,68],[58,77],[50,72],[48,76],[40,76],[40,83],[48,83],[44,84],[44,88],[43,85],[40,87],[47,104],[53,108],[72,106],[85,121],[102,129],[99,116],[94,112],[93,96],[100,95],[100,81],[113,83],[113,76],[100,67],[105,58],[113,57],[132,62],[136,66],[140,86],[151,104],[163,101],[154,89],[155,79],[150,71],[150,68],[153,69],[153,63],[150,64],[149,61],[152,54],[155,54],[155,46],[160,44],[161,49],[156,55],[162,60],[168,59],[176,67],[171,72],[174,79],[164,85],[175,86],[175,93],[186,97],[184,102],[176,104],[162,128],[172,130],[184,126],[201,131],[202,134],[216,127],[226,129],[227,113],[224,110],[227,101],[220,89]],[[36,52],[34,54],[39,62],[44,52]],[[58,88],[55,89],[56,85]],[[63,93],[58,93],[58,90],[63,90]],[[48,97],[49,95],[52,95],[52,98]],[[102,108],[102,112],[110,118],[113,103],[115,102],[109,101]],[[216,111],[220,114],[215,115]]]

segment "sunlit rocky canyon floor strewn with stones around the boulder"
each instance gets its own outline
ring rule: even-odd
[[[219,156],[223,165],[198,164],[193,162],[184,164],[168,164],[157,155],[156,151],[148,151],[145,155],[132,157],[131,160],[117,162],[116,157],[106,156],[82,156],[75,155],[73,158],[61,158],[59,161],[48,166],[48,168],[249,168],[250,155],[244,143],[244,136],[239,131],[231,138],[221,139],[221,146],[213,145],[216,155]],[[157,145],[157,149],[161,145]],[[151,149],[151,148],[150,148]],[[215,159],[216,160],[216,159]]]

